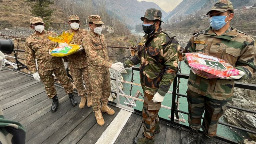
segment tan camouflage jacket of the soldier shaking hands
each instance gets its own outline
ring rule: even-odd
[[[88,56],[89,72],[105,73],[109,72],[111,63],[107,53],[107,44],[103,34],[100,37],[89,32],[82,40],[82,46]]]

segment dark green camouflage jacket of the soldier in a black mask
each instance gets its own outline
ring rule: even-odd
[[[165,96],[177,74],[180,46],[174,35],[160,27],[151,37],[144,35],[138,44],[138,53],[124,62],[124,67],[140,63],[140,83],[143,90]]]

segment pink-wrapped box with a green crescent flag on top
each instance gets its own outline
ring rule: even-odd
[[[204,53],[185,53],[188,64],[203,78],[225,78],[238,75],[239,71],[223,59]]]

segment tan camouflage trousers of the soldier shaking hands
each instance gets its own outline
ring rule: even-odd
[[[102,104],[107,104],[111,92],[110,73],[90,73],[89,82],[91,85],[92,108],[97,111]],[[100,102],[101,100],[101,102]]]

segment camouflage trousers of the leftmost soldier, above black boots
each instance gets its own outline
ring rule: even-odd
[[[41,81],[44,84],[44,88],[46,90],[46,94],[48,98],[52,99],[57,94],[57,91],[54,86],[53,72],[57,77],[58,81],[60,82],[60,84],[64,87],[64,90],[66,91],[66,93],[72,93],[73,84],[71,83],[71,80],[69,79],[64,66],[61,66],[51,71],[45,71],[45,72],[39,71],[39,76]]]

